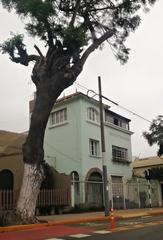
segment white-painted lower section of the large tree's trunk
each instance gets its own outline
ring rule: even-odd
[[[16,212],[23,224],[37,222],[35,206],[43,178],[44,171],[41,166],[39,169],[37,165],[24,164],[24,176]]]

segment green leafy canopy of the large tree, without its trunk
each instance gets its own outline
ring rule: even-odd
[[[32,37],[39,37],[46,46],[59,40],[69,52],[81,52],[95,38],[114,30],[108,40],[121,63],[128,60],[125,40],[140,24],[139,10],[148,9],[156,0],[0,0],[9,11],[14,9],[25,22]],[[105,41],[104,40],[104,41]],[[103,42],[101,43],[101,46]],[[99,45],[99,47],[101,47]],[[7,51],[6,51],[7,52]]]

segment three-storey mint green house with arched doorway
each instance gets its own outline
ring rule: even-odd
[[[30,112],[33,105],[34,101],[30,102]],[[133,133],[129,128],[130,120],[110,111],[107,105],[104,105],[103,115],[108,180],[109,183],[125,182],[132,176]],[[44,150],[47,162],[58,172],[71,175],[76,182],[75,203],[102,202],[102,153],[97,100],[80,92],[59,99],[49,117]],[[86,186],[88,181],[99,184]],[[77,182],[85,184],[79,187]]]

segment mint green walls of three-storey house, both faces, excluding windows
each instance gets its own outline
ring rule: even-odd
[[[102,169],[102,158],[89,156],[89,139],[100,141],[100,124],[88,121],[87,108],[94,107],[98,111],[98,105],[86,97],[76,96],[72,100],[58,103],[55,111],[65,107],[68,117],[66,124],[51,127],[48,122],[44,142],[45,159],[57,171],[66,174],[77,171],[80,179],[84,180],[90,169]],[[131,132],[120,129],[111,124],[105,125],[108,175],[130,178],[132,175],[131,164],[113,163],[111,160],[112,145],[127,148],[131,160]]]

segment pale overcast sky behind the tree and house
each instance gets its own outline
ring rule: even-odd
[[[127,40],[131,48],[130,59],[124,66],[113,56],[106,44],[102,51],[94,52],[88,59],[77,83],[88,89],[98,91],[98,76],[102,79],[103,95],[121,106],[152,121],[163,114],[163,1],[158,0],[148,14],[142,17],[142,23]],[[10,32],[23,32],[23,24],[16,15],[0,7],[0,42]],[[34,40],[26,38],[30,53]],[[35,90],[30,75],[32,65],[24,67],[12,63],[7,55],[0,55],[0,129],[22,132],[29,127],[29,100]],[[76,91],[85,92],[75,85],[65,94]],[[149,122],[114,107],[111,110],[131,119],[133,156],[148,157],[156,155],[157,147],[149,147],[142,137],[148,130]]]

